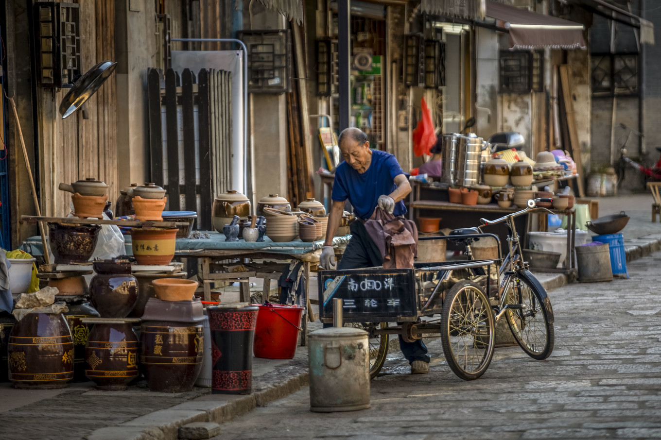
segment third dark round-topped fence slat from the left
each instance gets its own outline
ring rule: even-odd
[[[195,120],[193,114],[193,75],[190,69],[181,74],[182,137],[184,141],[184,185],[186,211],[198,211],[195,163]]]

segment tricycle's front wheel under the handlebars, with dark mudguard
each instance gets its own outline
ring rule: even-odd
[[[514,339],[533,359],[546,359],[553,351],[555,333],[553,323],[549,322],[549,316],[547,316],[543,297],[538,287],[530,281],[528,276],[517,272],[516,275],[512,275],[506,295],[506,305],[522,306],[520,309],[506,309],[505,311],[507,324],[510,326]]]

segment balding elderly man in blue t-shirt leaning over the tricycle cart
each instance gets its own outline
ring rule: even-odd
[[[342,131],[339,143],[344,162],[335,170],[332,207],[319,266],[323,269],[336,266],[331,243],[340,225],[346,200],[353,205],[358,220],[351,225],[352,237],[337,268],[342,270],[381,266],[381,253],[369,238],[364,223],[373,218],[377,206],[395,216],[407,213],[403,202],[411,190],[407,176],[395,156],[385,151],[370,149],[368,136],[358,128]],[[408,359],[411,374],[429,372],[429,356],[422,340],[405,342],[399,336],[399,346]]]

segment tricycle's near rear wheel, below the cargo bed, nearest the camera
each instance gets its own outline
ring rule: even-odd
[[[489,301],[473,281],[449,289],[441,315],[441,343],[447,365],[461,379],[483,375],[494,355],[494,318]]]

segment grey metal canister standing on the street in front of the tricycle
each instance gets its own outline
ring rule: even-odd
[[[323,328],[309,335],[310,411],[369,408],[369,343],[365,330]]]

